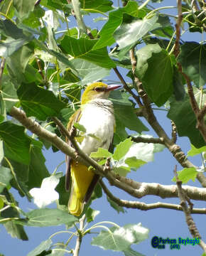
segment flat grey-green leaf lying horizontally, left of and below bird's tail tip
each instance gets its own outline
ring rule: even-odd
[[[53,225],[70,225],[77,218],[67,212],[58,209],[42,208],[31,210],[26,214],[26,219],[18,220],[18,224],[33,227],[49,227]]]

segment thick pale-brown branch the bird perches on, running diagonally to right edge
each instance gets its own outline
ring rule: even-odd
[[[75,149],[72,149],[72,147],[60,139],[56,134],[49,132],[31,118],[26,117],[26,114],[22,110],[12,107],[10,114],[38,137],[51,142],[64,154],[72,157],[72,159],[76,159],[76,161],[80,161],[80,163],[85,164],[85,166],[92,166],[96,174],[105,176],[109,183],[117,188],[120,188],[121,190],[126,191],[126,193],[129,193],[131,196],[136,198],[142,198],[143,196],[147,195],[160,196],[161,198],[178,197],[178,191],[175,185],[163,186],[159,183],[140,183],[129,178],[119,176],[118,174],[115,174],[114,171],[104,171],[104,166],[99,166],[96,161],[87,156],[87,154],[85,154],[78,146],[75,148],[77,150],[77,154],[75,154]],[[67,136],[69,136],[69,134],[67,134]],[[184,186],[184,189],[187,191],[190,198],[194,200],[206,201],[206,191],[204,188]]]

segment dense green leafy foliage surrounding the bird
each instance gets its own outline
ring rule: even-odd
[[[74,2],[0,1],[0,222],[12,237],[21,240],[28,240],[23,228],[26,225],[46,227],[64,224],[67,228],[77,228],[75,223],[79,219],[67,213],[65,176],[57,170],[50,174],[45,166],[43,149],[52,148],[53,152],[58,149],[16,122],[10,114],[13,106],[21,108],[40,127],[63,138],[51,118],[58,117],[66,125],[80,105],[85,85],[98,80],[109,82],[106,77],[111,70],[121,67],[122,73],[127,74],[124,80],[130,79],[130,82],[123,84],[121,91],[110,95],[116,117],[114,150],[109,152],[99,148],[90,157],[99,164],[105,164],[109,159],[114,174],[127,176],[130,171],[153,161],[156,152],[168,147],[153,141],[135,142],[139,138],[154,139],[151,127],[142,122],[143,108],[135,101],[140,95],[135,80],[138,77],[149,105],[154,111],[166,111],[167,118],[175,123],[178,136],[190,140],[188,156],[202,154],[202,166],[183,166],[185,168],[178,172],[180,181],[195,181],[198,172],[205,171],[205,141],[197,129],[197,119],[178,63],[193,82],[194,97],[201,109],[206,102],[206,43],[181,41],[180,53],[175,58],[172,18],[142,4],[142,1],[132,0],[122,1],[121,6],[110,0],[81,0],[83,18],[95,14],[94,18],[100,22],[98,26],[92,23],[92,28],[84,31],[80,29],[81,21],[70,23],[74,16]],[[203,33],[206,23],[204,11],[194,12],[191,1],[187,2],[189,4],[183,5],[183,23],[188,27],[184,33]],[[131,62],[131,50],[134,50],[135,66]],[[152,126],[152,122],[150,124]],[[75,123],[75,128],[81,136],[87,134],[82,125]],[[153,129],[156,131],[156,127]],[[134,134],[134,139],[131,134]],[[87,135],[98,139],[94,134]],[[31,201],[33,197],[39,208],[25,212],[18,207],[11,188],[15,188],[25,200]],[[92,200],[99,197],[102,197],[102,188],[97,186]],[[126,212],[111,198],[108,201],[118,213]],[[45,207],[52,202],[57,203],[56,208]],[[90,203],[85,208],[87,223],[92,223],[99,213],[90,208]],[[90,228],[67,233],[72,236],[81,233],[84,237],[98,228],[99,235],[92,239],[92,245],[121,251],[124,255],[141,255],[131,249],[131,245],[148,238],[147,228],[140,223],[123,227],[112,223],[111,228],[105,224],[111,223],[96,223]],[[65,255],[65,252],[72,252],[67,250],[68,243],[54,246],[52,238],[41,242],[28,255]]]

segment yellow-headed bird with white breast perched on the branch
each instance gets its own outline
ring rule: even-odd
[[[86,129],[85,136],[75,137],[75,140],[88,156],[99,147],[109,149],[112,144],[115,117],[112,101],[108,97],[109,92],[119,87],[121,85],[107,85],[103,82],[87,85],[82,93],[80,108],[70,117],[68,132],[71,132],[74,123],[82,124]],[[67,143],[72,146],[70,141],[67,140]],[[66,166],[65,188],[70,192],[68,210],[70,214],[80,216],[99,181],[99,175],[70,156],[66,156]]]

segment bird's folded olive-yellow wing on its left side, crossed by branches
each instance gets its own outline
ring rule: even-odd
[[[82,114],[82,110],[77,110],[72,116],[70,117],[70,121],[67,124],[67,130],[70,132],[72,129],[72,126],[75,122],[78,122],[80,120]],[[71,142],[66,138],[67,144],[72,146]],[[70,191],[70,164],[71,164],[71,158],[70,156],[66,156],[66,176],[65,176],[65,188],[66,191]]]

